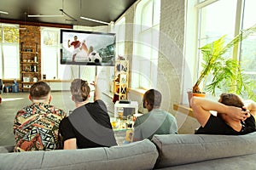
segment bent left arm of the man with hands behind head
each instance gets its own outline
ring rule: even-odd
[[[211,116],[210,111],[217,111],[219,114],[226,114],[234,120],[245,120],[247,118],[246,113],[248,113],[248,111],[242,111],[241,108],[224,105],[206,98],[192,97],[190,104],[195,118],[202,127],[207,124],[207,121]]]

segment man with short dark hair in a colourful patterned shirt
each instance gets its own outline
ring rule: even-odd
[[[14,151],[62,149],[59,124],[67,114],[49,105],[49,85],[43,81],[35,82],[30,88],[29,99],[32,105],[27,105],[15,116]]]

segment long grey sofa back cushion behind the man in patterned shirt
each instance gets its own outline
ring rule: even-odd
[[[0,154],[0,169],[153,169],[158,150],[148,139],[80,150]]]

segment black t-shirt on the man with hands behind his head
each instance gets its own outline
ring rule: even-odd
[[[232,127],[224,122],[221,117],[210,116],[205,127],[199,127],[195,134],[227,134],[227,135],[241,135],[253,133],[256,131],[255,120],[250,116],[246,121],[241,122],[241,131],[237,132]]]

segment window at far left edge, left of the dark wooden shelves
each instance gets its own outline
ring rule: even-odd
[[[18,25],[0,24],[0,77],[20,79]]]

